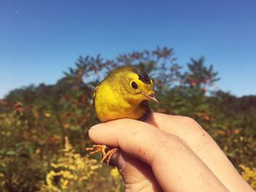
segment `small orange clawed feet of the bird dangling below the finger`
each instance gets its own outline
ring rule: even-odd
[[[100,160],[100,163],[106,162],[106,164],[109,165],[111,157],[117,152],[118,148],[110,148],[108,149],[106,145],[92,145],[92,147],[87,147],[86,151],[91,151],[89,155],[92,155],[97,152],[102,152],[102,159]],[[107,152],[106,152],[107,151]]]

